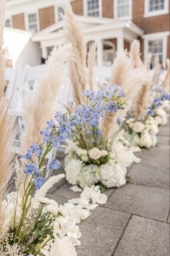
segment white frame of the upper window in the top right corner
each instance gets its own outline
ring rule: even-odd
[[[144,10],[144,18],[152,17],[152,16],[159,16],[163,14],[169,13],[169,0],[165,0],[165,6],[162,10],[155,10],[155,11],[149,11],[149,0],[145,0],[145,10]]]

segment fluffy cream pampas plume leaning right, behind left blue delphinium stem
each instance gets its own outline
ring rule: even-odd
[[[24,100],[25,131],[21,136],[21,154],[25,154],[33,143],[43,142],[43,137],[39,133],[46,128],[46,122],[53,119],[57,111],[57,98],[70,51],[70,44],[53,48],[35,91],[30,91]],[[38,162],[36,156],[34,162]],[[23,197],[24,184],[20,185],[19,193]]]

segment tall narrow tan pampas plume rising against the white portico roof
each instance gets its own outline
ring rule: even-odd
[[[80,22],[77,21],[71,6],[69,5],[65,6],[63,21],[63,36],[65,42],[72,44],[69,74],[72,83],[74,102],[75,105],[79,105],[84,101],[84,98],[81,96],[81,91],[84,92],[87,88],[86,41]]]

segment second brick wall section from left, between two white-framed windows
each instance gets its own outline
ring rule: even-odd
[[[54,6],[49,6],[47,8],[39,9],[38,12],[39,12],[40,30],[55,23]]]

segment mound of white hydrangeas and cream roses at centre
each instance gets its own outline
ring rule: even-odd
[[[65,158],[67,181],[82,188],[85,186],[91,187],[98,182],[101,182],[106,187],[120,187],[126,184],[127,167],[133,162],[140,162],[140,158],[137,158],[132,150],[129,149],[130,144],[123,135],[115,142],[110,139],[108,144],[110,144],[109,150],[100,150],[97,147],[93,147],[89,151],[80,148],[72,151],[69,146],[66,153],[70,154]],[[98,164],[86,164],[83,161],[84,156],[99,162]],[[103,164],[102,159],[105,156],[107,156],[108,160]]]

